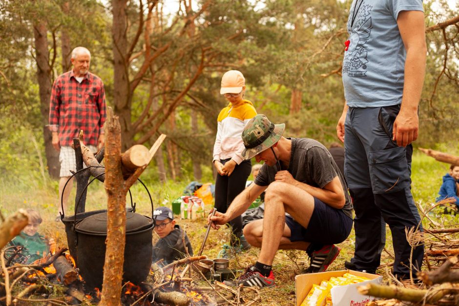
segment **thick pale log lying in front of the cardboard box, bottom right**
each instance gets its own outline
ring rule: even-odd
[[[397,286],[382,286],[377,284],[367,284],[359,286],[358,292],[363,295],[371,295],[386,299],[397,299],[400,301],[436,303],[445,294],[454,293],[457,289],[451,285],[440,285],[429,290],[403,288]]]

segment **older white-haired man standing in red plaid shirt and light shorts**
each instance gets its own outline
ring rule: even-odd
[[[49,127],[53,133],[53,146],[60,151],[61,179],[59,200],[63,186],[75,171],[75,152],[71,147],[80,130],[84,133],[84,143],[93,151],[104,145],[105,91],[104,83],[89,72],[91,53],[84,47],[72,51],[73,69],[60,75],[53,84],[49,105]],[[65,188],[64,210],[72,190],[73,179]],[[59,205],[61,213],[61,205]],[[56,218],[56,221],[60,217]]]

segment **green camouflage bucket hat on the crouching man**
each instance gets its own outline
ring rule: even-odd
[[[242,141],[246,147],[242,156],[248,160],[269,149],[279,141],[284,130],[284,123],[274,124],[265,115],[256,115],[247,123],[242,132]]]

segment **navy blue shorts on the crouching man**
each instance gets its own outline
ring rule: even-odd
[[[285,216],[285,224],[292,235],[290,241],[305,241],[323,245],[339,244],[351,233],[353,220],[341,209],[333,208],[314,198],[314,211],[308,228],[304,228],[291,216]]]

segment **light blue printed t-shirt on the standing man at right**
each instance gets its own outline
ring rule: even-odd
[[[422,0],[352,2],[347,23],[351,43],[342,71],[350,107],[401,103],[406,50],[397,26],[400,11],[423,11]]]

